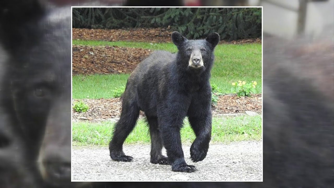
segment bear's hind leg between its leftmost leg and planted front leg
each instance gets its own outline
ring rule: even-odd
[[[162,138],[158,129],[157,117],[146,115],[151,135],[151,163],[168,165],[168,158],[162,155]]]

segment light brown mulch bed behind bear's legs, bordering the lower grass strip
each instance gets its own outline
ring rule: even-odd
[[[73,103],[79,101],[73,99]],[[76,120],[90,120],[101,121],[110,118],[118,118],[121,114],[122,103],[119,98],[113,99],[83,99],[90,109],[85,113],[78,113],[73,111],[72,119]],[[212,108],[212,115],[219,116],[219,114],[236,114],[244,113],[245,111],[253,111],[262,114],[262,95],[256,94],[250,97],[237,98],[236,95],[219,96],[217,106]],[[141,113],[141,116],[144,114]]]

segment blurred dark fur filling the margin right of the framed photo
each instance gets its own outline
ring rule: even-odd
[[[334,45],[264,40],[263,187],[334,187]]]

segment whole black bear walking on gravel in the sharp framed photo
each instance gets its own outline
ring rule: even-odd
[[[129,162],[123,153],[123,142],[135,127],[139,110],[145,112],[151,135],[151,163],[170,164],[176,172],[194,172],[187,165],[181,147],[180,129],[188,116],[196,139],[190,148],[193,162],[202,161],[211,139],[210,72],[218,33],[206,39],[188,40],[179,32],[172,33],[177,54],[152,53],[141,62],[126,84],[122,95],[122,112],[109,144],[110,157]],[[161,150],[166,148],[167,157]]]

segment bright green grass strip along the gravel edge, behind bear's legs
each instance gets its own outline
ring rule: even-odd
[[[229,143],[242,140],[261,140],[262,118],[258,116],[214,117],[212,119],[212,143]],[[110,142],[114,123],[73,122],[72,140],[75,146],[102,145]],[[245,134],[246,133],[246,134]],[[195,134],[187,120],[181,129],[184,144],[192,143]],[[150,144],[148,128],[140,119],[125,144]]]

